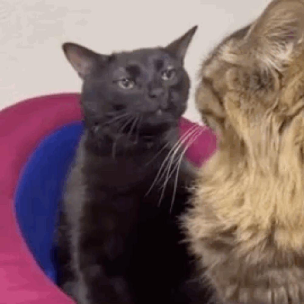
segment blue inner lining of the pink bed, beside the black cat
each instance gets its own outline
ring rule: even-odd
[[[75,122],[44,138],[26,162],[16,187],[16,217],[22,236],[37,263],[54,282],[58,204],[82,130],[82,122]]]

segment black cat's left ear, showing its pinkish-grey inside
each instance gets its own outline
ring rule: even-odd
[[[105,61],[107,57],[71,42],[64,43],[62,49],[67,60],[82,79],[91,74],[94,67],[99,62]]]

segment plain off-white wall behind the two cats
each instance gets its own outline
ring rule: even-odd
[[[0,109],[49,93],[78,92],[61,44],[101,53],[165,45],[195,24],[185,60],[192,79],[186,117],[199,120],[193,91],[201,60],[269,0],[0,0]]]

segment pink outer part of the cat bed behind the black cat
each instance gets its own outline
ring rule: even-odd
[[[5,304],[74,303],[36,264],[22,239],[14,209],[20,171],[40,140],[68,123],[81,119],[78,94],[48,95],[19,102],[0,112],[0,302]],[[181,120],[181,135],[193,123]],[[213,133],[201,134],[187,150],[200,165],[216,148]],[[188,141],[191,140],[191,136]]]

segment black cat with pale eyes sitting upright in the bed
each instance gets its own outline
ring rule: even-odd
[[[165,48],[110,56],[63,46],[83,79],[85,131],[59,229],[60,286],[78,303],[192,303],[198,294],[177,221],[191,166],[177,158],[178,179],[153,184],[178,140],[190,83],[183,59],[196,28]]]

